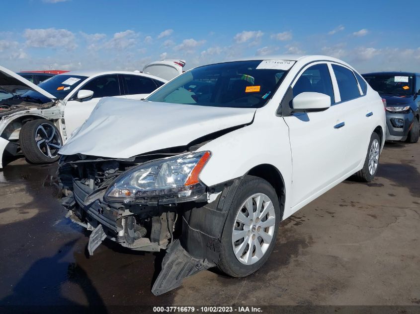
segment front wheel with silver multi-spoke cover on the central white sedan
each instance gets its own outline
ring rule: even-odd
[[[246,176],[223,228],[219,269],[233,277],[258,270],[274,248],[280,219],[274,188],[261,178]]]

